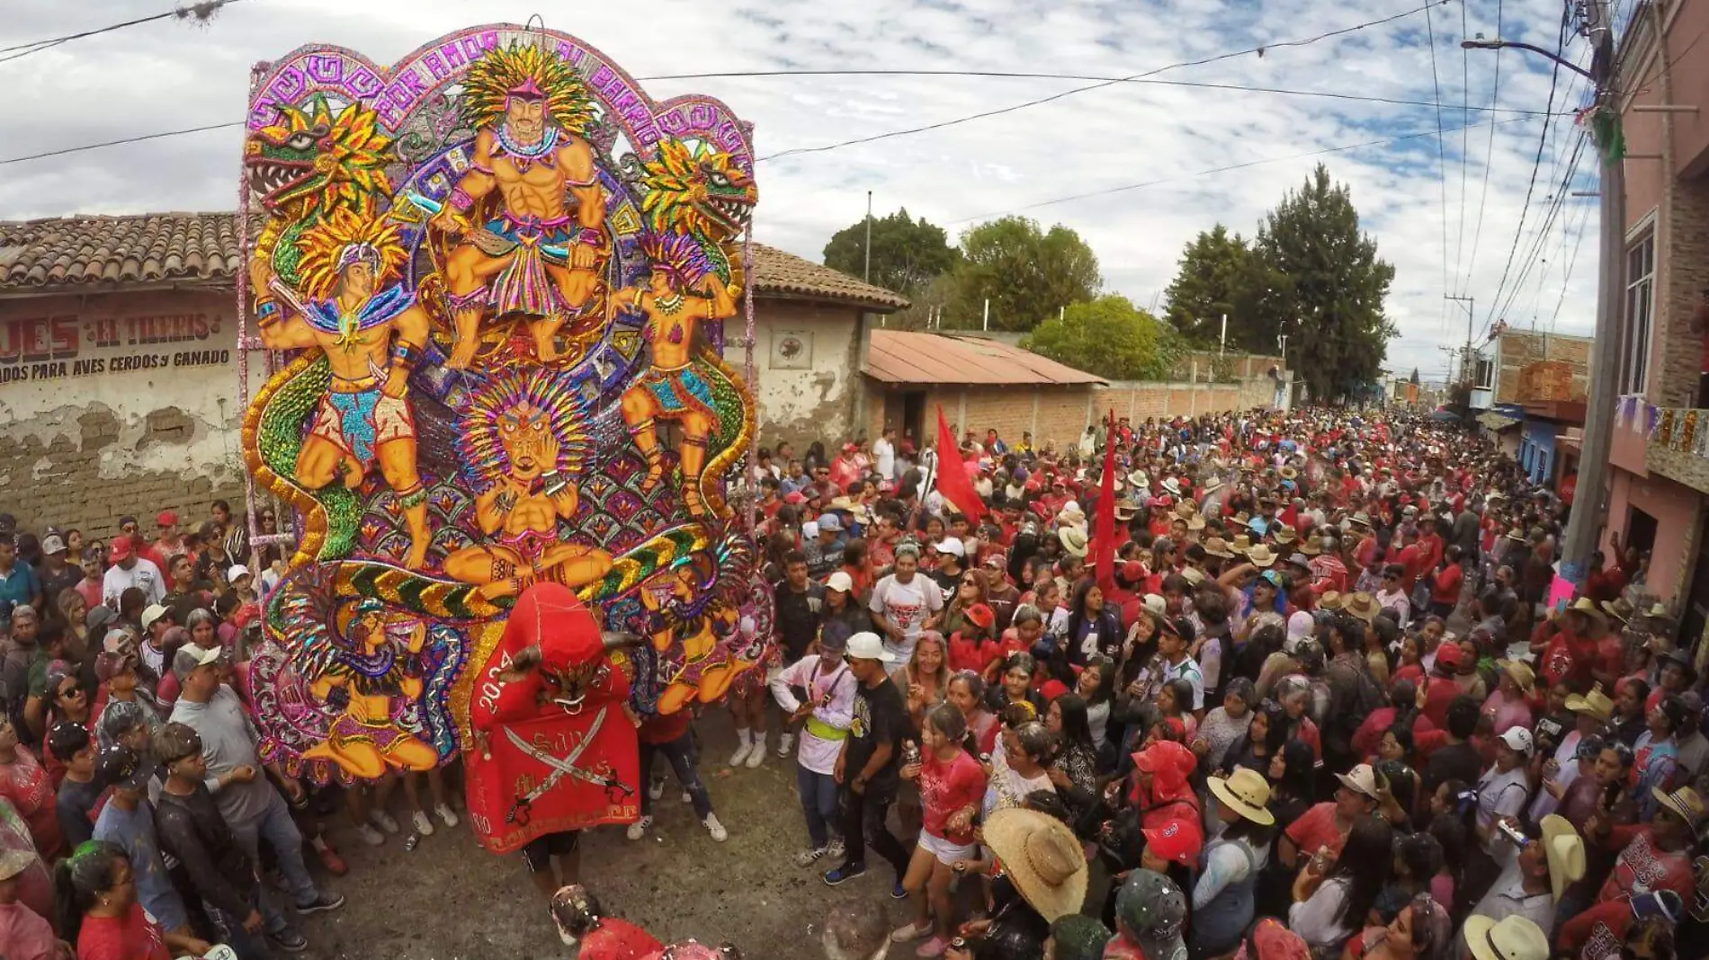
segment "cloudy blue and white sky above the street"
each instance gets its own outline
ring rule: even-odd
[[[169,5],[9,0],[0,48]],[[1553,50],[1559,0],[1437,2],[1429,20],[1418,0],[555,7],[561,12],[547,26],[579,36],[641,79],[774,70],[1084,77],[791,75],[646,84],[660,99],[684,92],[725,99],[755,123],[761,157],[1148,73],[1147,82],[1109,84],[1000,116],[762,162],[757,239],[815,261],[832,232],[863,215],[870,190],[877,212],[906,207],[952,234],[1012,212],[1070,225],[1097,251],[1106,287],[1152,307],[1198,231],[1224,222],[1251,236],[1265,210],[1323,161],[1352,186],[1364,229],[1396,266],[1388,309],[1401,337],[1389,345],[1389,366],[1401,374],[1417,366],[1427,379],[1441,378],[1446,355],[1439,347],[1465,340],[1465,307],[1444,294],[1477,301],[1480,333],[1492,316],[1560,333],[1588,335],[1593,326],[1596,202],[1569,196],[1555,208],[1579,133],[1571,116],[1543,116],[1550,65],[1519,51],[1502,53],[1497,63],[1494,51],[1459,50],[1463,38],[1497,32]],[[9,92],[0,101],[0,162],[234,121],[243,114],[250,65],[304,43],[337,43],[391,61],[458,27],[523,22],[540,9],[506,0],[243,0],[205,26],[169,19],[26,56],[0,51],[0,84]],[[1222,56],[1258,46],[1266,48],[1263,56]],[[1567,53],[1581,63],[1589,56],[1577,38]],[[1208,58],[1217,60],[1186,65]],[[1583,102],[1584,84],[1560,72],[1553,109]],[[1439,126],[1446,137],[1437,137]],[[1381,143],[1362,145],[1372,142]],[[1314,152],[1324,154],[1306,155]],[[0,219],[231,208],[238,155],[238,130],[222,128],[5,162]],[[1569,190],[1594,190],[1588,147]]]

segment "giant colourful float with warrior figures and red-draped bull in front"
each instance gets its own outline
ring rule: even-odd
[[[325,782],[461,753],[502,852],[634,820],[634,724],[762,675],[755,196],[725,104],[655,102],[557,31],[256,67],[243,453],[296,512],[250,671],[268,760]]]

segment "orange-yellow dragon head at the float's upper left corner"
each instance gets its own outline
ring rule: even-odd
[[[244,166],[268,214],[297,217],[335,207],[361,210],[376,195],[390,196],[385,167],[391,138],[378,114],[350,104],[333,114],[323,94],[302,108],[280,106],[273,123],[244,145]]]

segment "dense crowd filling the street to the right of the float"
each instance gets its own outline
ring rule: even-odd
[[[1550,601],[1571,490],[1487,439],[1253,412],[759,468],[796,863],[907,900],[831,955],[1709,953],[1694,651],[1618,540]]]

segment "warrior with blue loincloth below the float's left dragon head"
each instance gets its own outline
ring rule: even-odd
[[[261,302],[256,323],[268,350],[318,348],[332,367],[294,480],[320,490],[342,478],[355,490],[378,460],[410,533],[403,565],[419,571],[432,535],[405,393],[431,323],[398,282],[407,260],[398,229],[385,215],[333,210],[302,234],[302,299],[272,282],[279,301]],[[256,270],[256,280],[268,282],[265,266]]]

